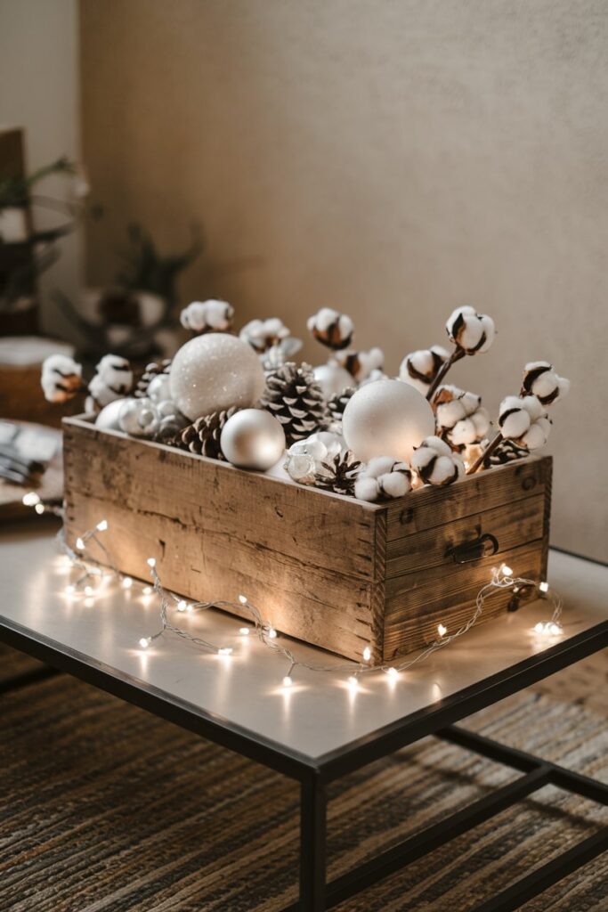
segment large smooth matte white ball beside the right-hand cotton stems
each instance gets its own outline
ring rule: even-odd
[[[435,417],[427,399],[408,383],[375,380],[348,400],[342,432],[361,461],[392,456],[408,462],[414,448],[435,433]]]

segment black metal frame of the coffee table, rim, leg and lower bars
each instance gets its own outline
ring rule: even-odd
[[[0,641],[50,666],[5,682],[0,687],[0,693],[53,674],[54,669],[66,671],[122,700],[149,710],[163,719],[300,782],[300,898],[284,912],[324,912],[325,909],[355,896],[366,887],[446,845],[457,836],[467,833],[550,782],[571,793],[608,804],[608,785],[555,763],[545,762],[524,751],[506,747],[454,724],[608,646],[608,621],[314,761],[222,718],[205,713],[184,700],[170,697],[139,679],[119,674],[116,669],[60,643],[46,637],[38,637],[25,627],[2,617]],[[435,735],[493,761],[506,764],[520,771],[522,775],[514,782],[469,804],[438,824],[429,826],[421,833],[359,865],[355,870],[326,883],[327,784],[428,735]],[[511,909],[517,909],[533,896],[538,896],[549,886],[591,861],[606,848],[608,827],[542,865],[497,896],[490,897],[473,912],[510,912]]]

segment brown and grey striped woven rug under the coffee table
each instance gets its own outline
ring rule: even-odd
[[[2,677],[11,662],[0,652]],[[0,696],[2,912],[276,912],[293,901],[293,782],[61,676]],[[603,715],[526,692],[466,723],[597,778]],[[433,739],[330,790],[329,876],[513,778]],[[467,912],[592,834],[597,805],[543,789],[339,912]],[[608,857],[526,912],[608,910]]]

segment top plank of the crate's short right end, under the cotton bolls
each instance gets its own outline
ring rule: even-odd
[[[448,488],[424,487],[387,507],[389,542],[453,523],[541,493],[551,476],[550,456],[531,456],[511,465],[477,472]]]

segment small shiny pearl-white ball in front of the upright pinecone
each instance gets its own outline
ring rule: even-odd
[[[285,432],[269,411],[242,409],[224,424],[220,446],[232,465],[266,472],[285,451]]]

